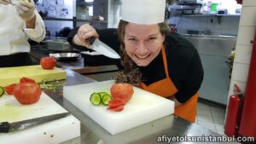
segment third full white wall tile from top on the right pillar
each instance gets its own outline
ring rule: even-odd
[[[250,45],[236,45],[235,62],[250,64],[253,47]]]

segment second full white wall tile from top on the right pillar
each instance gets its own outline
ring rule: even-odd
[[[255,26],[239,26],[237,42],[238,44],[252,45],[254,39]]]

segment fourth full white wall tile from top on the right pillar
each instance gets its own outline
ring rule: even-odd
[[[248,72],[249,72],[249,65],[235,62],[233,64],[232,79],[241,81],[241,82],[246,82]]]

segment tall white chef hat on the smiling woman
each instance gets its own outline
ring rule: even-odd
[[[122,20],[137,24],[164,22],[166,0],[122,0]]]

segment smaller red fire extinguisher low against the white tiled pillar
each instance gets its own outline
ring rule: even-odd
[[[242,99],[241,90],[236,84],[234,85],[234,93],[234,95],[230,95],[228,112],[224,124],[224,134],[237,137],[241,118]]]

